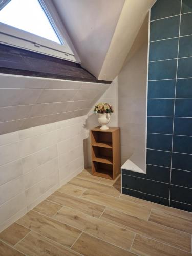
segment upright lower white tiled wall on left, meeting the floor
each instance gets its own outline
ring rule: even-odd
[[[0,135],[0,231],[83,170],[85,120]]]

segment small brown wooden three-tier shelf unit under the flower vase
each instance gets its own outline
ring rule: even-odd
[[[91,130],[92,174],[114,180],[120,174],[120,129]]]

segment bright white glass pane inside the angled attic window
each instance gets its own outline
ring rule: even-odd
[[[0,11],[0,22],[61,44],[38,0],[11,0]]]

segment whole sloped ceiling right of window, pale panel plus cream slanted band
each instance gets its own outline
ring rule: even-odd
[[[53,3],[81,65],[98,79],[113,81],[155,0],[53,0]]]

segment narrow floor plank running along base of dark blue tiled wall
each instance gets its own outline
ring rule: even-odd
[[[177,216],[180,216],[180,217],[185,218],[185,219],[192,220],[192,212],[179,210],[179,209],[168,207],[168,206],[161,205],[161,204],[156,204],[156,203],[153,203],[153,202],[150,202],[150,201],[146,201],[146,200],[136,198],[136,197],[132,197],[132,196],[125,195],[125,194],[121,194],[120,198],[123,199],[123,200],[135,202],[135,203],[138,203],[138,204],[143,204],[143,205],[148,206],[148,207],[153,208],[153,209],[162,210],[162,211],[167,212],[169,214],[177,215]]]

